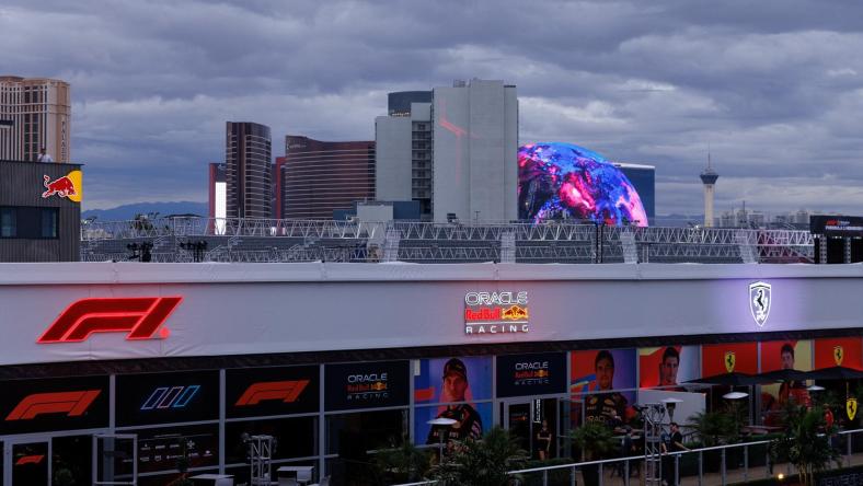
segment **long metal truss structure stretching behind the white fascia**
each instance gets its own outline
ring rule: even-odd
[[[170,218],[90,222],[81,259],[128,259],[126,244],[149,241],[152,262],[191,262],[179,243],[193,238],[208,262],[796,263],[814,250],[785,229]]]

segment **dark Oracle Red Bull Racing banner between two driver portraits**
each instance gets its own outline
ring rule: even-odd
[[[497,396],[566,393],[566,354],[497,357]]]

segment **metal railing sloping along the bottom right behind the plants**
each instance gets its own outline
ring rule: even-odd
[[[833,437],[833,448],[841,456],[843,465],[863,464],[863,429],[843,430]],[[858,437],[855,437],[858,436]],[[692,449],[671,452],[659,456],[626,458],[556,464],[510,471],[518,485],[556,486],[576,484],[597,484],[598,486],[630,486],[637,484],[680,486],[725,486],[784,474],[796,474],[792,464],[772,464],[769,454],[770,440],[743,442],[727,445]],[[645,462],[658,461],[658,477],[643,478],[647,467]],[[635,477],[633,476],[635,473]],[[580,477],[579,477],[580,476]],[[586,481],[587,478],[587,481]],[[677,478],[677,482],[675,482]],[[646,479],[646,481],[645,481]],[[436,485],[435,481],[402,484],[399,486]]]

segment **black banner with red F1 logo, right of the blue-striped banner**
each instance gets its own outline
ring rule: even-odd
[[[228,418],[318,412],[320,368],[227,370],[225,389]]]

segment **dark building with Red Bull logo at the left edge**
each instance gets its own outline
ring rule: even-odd
[[[0,160],[0,262],[78,262],[81,166]]]

